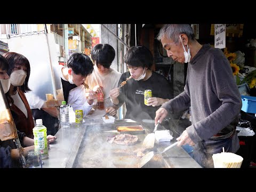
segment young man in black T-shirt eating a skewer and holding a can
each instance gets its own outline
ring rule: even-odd
[[[125,118],[154,119],[156,110],[172,98],[170,83],[160,74],[150,70],[153,65],[153,55],[145,46],[132,46],[124,55],[124,62],[129,71],[122,74],[118,86],[126,78],[126,84],[120,89],[117,87],[110,91],[110,99],[114,105],[121,107],[125,102]],[[144,91],[151,90],[152,98],[144,104]]]

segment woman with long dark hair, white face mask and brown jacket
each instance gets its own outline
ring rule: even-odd
[[[19,53],[8,52],[3,56],[9,63],[7,74],[10,76],[11,86],[9,94],[13,100],[10,106],[12,113],[17,115],[17,129],[26,133],[29,138],[34,138],[34,119],[24,93],[31,91],[28,87],[30,65],[26,57]]]

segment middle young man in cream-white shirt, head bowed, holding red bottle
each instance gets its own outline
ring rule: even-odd
[[[105,110],[97,108],[94,101],[93,109],[86,116],[93,119],[101,119],[103,115],[108,113],[111,116],[116,115],[117,108],[110,101],[109,92],[118,85],[121,73],[111,68],[111,64],[115,59],[115,50],[109,44],[97,44],[92,50],[92,60],[94,62],[94,70],[90,74],[85,83],[92,87],[95,92],[103,92],[104,94],[104,107]],[[89,90],[86,90],[89,91]]]

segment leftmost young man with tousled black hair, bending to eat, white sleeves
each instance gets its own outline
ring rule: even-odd
[[[67,61],[67,68],[61,68],[61,83],[64,99],[73,110],[82,109],[85,117],[92,109],[93,100],[97,98],[97,93],[89,92],[86,98],[85,87],[83,85],[87,75],[93,71],[93,63],[89,56],[75,52]]]

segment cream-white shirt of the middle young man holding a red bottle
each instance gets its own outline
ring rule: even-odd
[[[109,92],[110,90],[116,88],[118,86],[119,79],[121,77],[121,73],[116,71],[113,68],[109,68],[108,73],[106,74],[100,74],[99,69],[96,65],[94,65],[94,69],[92,71],[92,74],[88,75],[85,79],[85,83],[93,89],[96,85],[103,86],[103,92],[104,92],[104,107],[113,107],[113,103],[110,101]],[[88,89],[86,89],[86,92],[89,92]],[[101,119],[103,115],[106,114],[105,110],[99,110],[96,106],[97,102],[93,102],[94,106],[93,109],[90,111],[90,113],[86,116],[88,118],[93,119]]]

